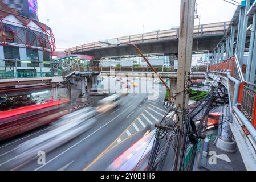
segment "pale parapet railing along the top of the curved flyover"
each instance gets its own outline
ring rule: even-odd
[[[229,27],[230,22],[220,22],[220,23],[210,23],[202,24],[201,26],[194,26],[194,34],[200,36],[203,34],[210,34],[210,32],[225,31]],[[170,30],[154,31],[145,34],[136,34],[130,36],[123,36],[120,38],[114,38],[112,40],[119,40],[121,42],[143,42],[148,40],[164,40],[169,38],[178,37],[178,28],[173,28]],[[100,42],[83,44],[81,46],[72,47],[67,49],[68,52],[78,52],[82,50],[101,48]]]

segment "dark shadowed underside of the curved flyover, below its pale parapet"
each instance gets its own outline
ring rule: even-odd
[[[193,51],[197,50],[212,50],[218,42],[220,42],[224,34],[205,35],[194,38]],[[198,40],[198,44],[197,44]],[[143,53],[165,53],[165,55],[178,53],[178,39],[169,38],[164,40],[151,40],[147,42],[133,42]],[[198,46],[198,47],[197,47]],[[109,56],[124,56],[124,55],[137,55],[136,49],[131,46],[110,46],[95,49],[84,49],[80,51],[72,51],[72,53],[94,56],[95,60],[100,60],[102,57]]]

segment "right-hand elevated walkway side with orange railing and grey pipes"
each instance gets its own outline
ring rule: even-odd
[[[245,81],[237,55],[210,65],[208,76],[227,88],[231,131],[247,170],[256,170],[256,85]]]

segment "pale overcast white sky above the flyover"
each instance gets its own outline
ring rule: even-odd
[[[236,6],[197,0],[201,24],[231,20]],[[38,0],[39,20],[50,26],[56,47],[71,48],[178,26],[179,0]],[[198,24],[198,20],[195,21]]]

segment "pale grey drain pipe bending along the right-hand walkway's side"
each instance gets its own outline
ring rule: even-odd
[[[234,100],[233,100],[233,110],[235,114],[238,115],[239,119],[241,119],[241,122],[243,125],[245,125],[246,129],[250,132],[251,137],[253,137],[254,141],[256,142],[256,129],[251,125],[250,121],[241,113],[241,111],[237,107],[237,101],[238,101],[238,94],[239,94],[239,88],[241,85],[241,82],[233,77],[231,77],[230,73],[227,73],[227,77],[235,83],[235,92],[234,92]]]

